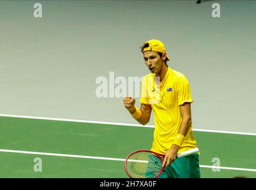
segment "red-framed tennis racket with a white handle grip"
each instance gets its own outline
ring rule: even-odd
[[[193,148],[178,154],[177,157],[188,156],[198,151],[198,148]],[[157,178],[165,169],[162,167],[163,156],[150,150],[134,151],[125,159],[125,172],[130,178]]]

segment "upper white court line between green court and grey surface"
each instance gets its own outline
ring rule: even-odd
[[[140,125],[140,124],[122,124],[122,123],[115,123],[115,122],[100,122],[100,121],[89,121],[89,120],[79,120],[79,119],[45,118],[45,117],[7,115],[7,114],[0,114],[0,116],[2,116],[2,117],[10,117],[10,118],[45,119],[45,120],[50,120],[50,121],[67,121],[67,122],[80,122],[80,123],[89,123],[89,124],[140,126],[140,127],[146,127],[146,128],[154,128],[154,125],[145,125],[144,126],[144,125]],[[226,133],[226,134],[254,135],[254,136],[256,136],[255,133],[249,133],[249,132],[217,131],[217,130],[208,130],[208,129],[193,129],[193,131],[218,132],[218,133]]]

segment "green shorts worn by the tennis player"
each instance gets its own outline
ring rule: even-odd
[[[165,167],[157,178],[200,178],[198,154],[179,157],[170,166]]]

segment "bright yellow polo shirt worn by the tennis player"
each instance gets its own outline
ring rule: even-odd
[[[189,82],[185,75],[168,67],[163,81],[156,74],[143,78],[140,103],[151,105],[154,111],[154,138],[151,151],[163,154],[170,149],[182,122],[179,106],[192,103]],[[192,125],[178,154],[197,147]]]

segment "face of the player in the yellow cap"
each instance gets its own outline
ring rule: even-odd
[[[148,69],[154,74],[160,74],[162,71],[162,58],[159,53],[147,51],[143,53],[145,64]]]

